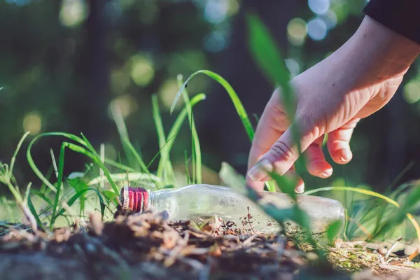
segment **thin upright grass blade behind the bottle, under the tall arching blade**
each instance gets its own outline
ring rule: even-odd
[[[181,89],[183,85],[182,81],[182,75],[178,75],[178,86]],[[195,128],[195,121],[193,116],[193,106],[190,104],[190,98],[188,97],[188,92],[186,88],[184,87],[184,90],[182,92],[182,96],[184,99],[184,102],[186,104],[186,109],[188,113],[188,123],[190,124],[190,130],[191,130],[191,137],[192,137],[192,150],[193,150],[193,166],[194,171],[193,172],[193,181],[195,183],[202,183],[202,155],[201,155],[201,148],[200,148],[200,139],[198,138],[197,129]]]

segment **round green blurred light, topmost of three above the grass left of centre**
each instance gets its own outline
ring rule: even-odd
[[[134,55],[129,60],[130,76],[134,83],[140,87],[145,87],[153,80],[155,69],[150,59],[144,55]]]

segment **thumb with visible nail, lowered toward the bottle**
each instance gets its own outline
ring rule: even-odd
[[[302,122],[297,123],[302,124]],[[306,125],[306,127],[308,127],[307,130],[300,130],[301,153],[321,136],[319,130],[314,129],[314,125]],[[318,133],[314,133],[314,131],[318,131]],[[269,177],[267,176],[267,172],[283,175],[293,167],[298,157],[297,145],[293,141],[293,129],[289,127],[271,148],[269,148],[269,151],[265,155],[262,155],[260,160],[249,169],[248,176],[253,181],[268,181]]]

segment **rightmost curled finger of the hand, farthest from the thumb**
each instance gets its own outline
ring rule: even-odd
[[[339,127],[337,130],[328,134],[328,151],[330,152],[332,160],[339,165],[344,165],[353,158],[349,143],[353,130],[359,120],[360,118],[350,120],[342,127]]]

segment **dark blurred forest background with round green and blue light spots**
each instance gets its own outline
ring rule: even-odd
[[[158,94],[163,122],[178,85],[200,69],[215,71],[234,87],[250,116],[260,116],[274,90],[246,44],[246,13],[260,15],[274,34],[291,76],[339,48],[360,25],[365,0],[1,0],[0,160],[8,162],[22,134],[62,131],[86,135],[95,148],[118,161],[120,145],[109,106],[117,104],[130,138],[146,162],[158,153],[151,96]],[[417,61],[418,62],[418,61]],[[418,63],[417,63],[418,64]],[[189,85],[204,92],[195,107],[197,131],[208,167],[204,181],[217,181],[221,162],[246,172],[250,143],[228,94],[206,76]],[[307,189],[345,181],[384,190],[410,162],[399,183],[420,178],[420,73],[413,65],[404,84],[381,111],[361,121],[351,141],[353,160],[333,164],[330,179],[304,175]],[[181,102],[179,102],[180,105]],[[256,124],[256,118],[251,118]],[[40,141],[38,167],[51,167],[62,139]],[[184,163],[188,125],[172,160]],[[86,158],[66,153],[66,174],[82,171]],[[18,182],[39,181],[20,153]],[[22,186],[25,186],[22,183]],[[6,191],[6,189],[3,189]]]

